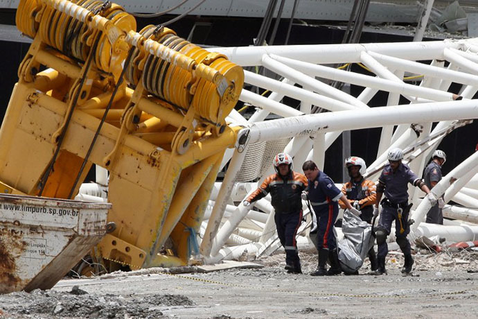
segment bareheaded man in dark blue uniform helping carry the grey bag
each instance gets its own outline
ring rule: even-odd
[[[319,261],[317,263],[317,270],[310,275],[339,275],[342,273],[342,269],[339,264],[337,243],[333,232],[335,220],[339,214],[337,200],[341,199],[345,207],[350,209],[353,214],[360,214],[360,212],[357,212],[357,209],[352,207],[342,191],[335,186],[333,180],[326,173],[319,171],[315,162],[304,162],[302,170],[308,180],[306,196],[314,210],[315,216],[312,216],[312,218],[315,218],[317,221],[316,247],[319,253]],[[326,270],[327,259],[330,260],[329,270]]]

